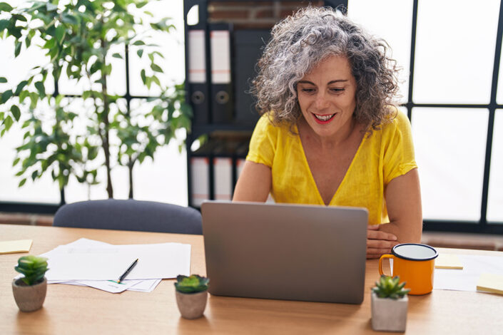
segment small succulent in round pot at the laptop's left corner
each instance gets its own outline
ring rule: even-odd
[[[176,304],[185,319],[197,319],[203,316],[208,299],[210,279],[193,274],[190,277],[176,277]]]

